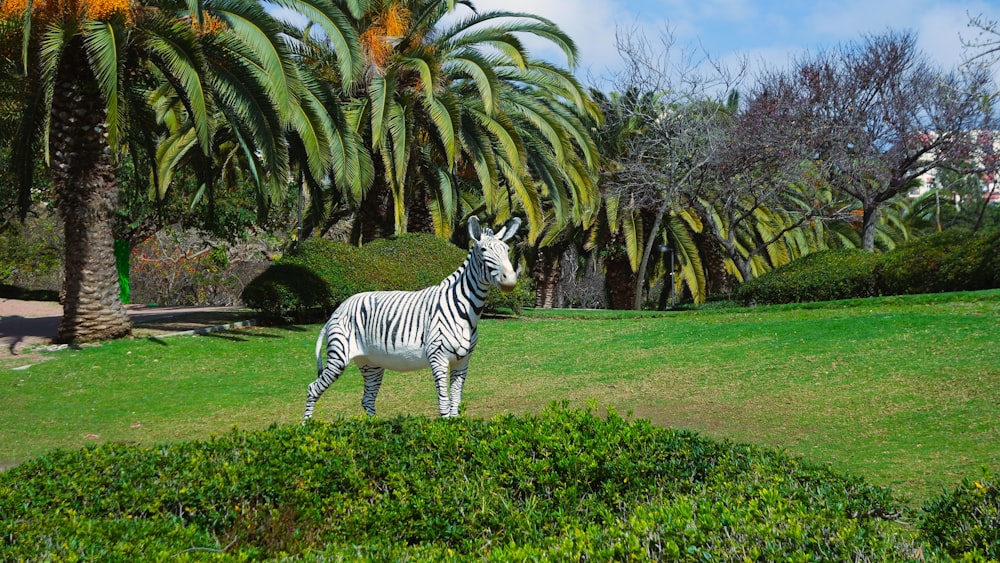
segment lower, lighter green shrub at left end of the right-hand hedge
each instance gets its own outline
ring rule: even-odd
[[[877,260],[871,252],[851,248],[808,254],[742,284],[736,296],[762,305],[871,297]]]

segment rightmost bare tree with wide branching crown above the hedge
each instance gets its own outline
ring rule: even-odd
[[[795,128],[836,189],[862,210],[862,247],[874,249],[879,211],[921,175],[975,172],[970,155],[994,127],[981,65],[944,72],[912,33],[886,32],[809,56],[789,71]],[[992,148],[991,148],[992,150]]]

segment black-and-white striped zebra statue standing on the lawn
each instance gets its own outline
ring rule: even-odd
[[[309,385],[303,422],[312,417],[316,401],[351,361],[364,377],[361,405],[369,415],[375,415],[375,397],[386,369],[430,366],[441,416],[458,416],[486,292],[491,285],[510,291],[517,284],[506,241],[520,224],[520,219],[511,219],[494,234],[470,217],[472,249],[465,263],[443,282],[419,291],[359,293],[341,303],[316,339],[318,376]]]

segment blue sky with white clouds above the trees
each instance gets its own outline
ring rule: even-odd
[[[567,31],[581,52],[578,76],[600,78],[619,64],[616,29],[658,38],[670,30],[678,49],[713,58],[783,66],[802,52],[855,41],[887,29],[917,33],[919,46],[944,66],[962,59],[962,38],[975,37],[969,16],[1000,20],[1000,0],[473,0],[479,10],[545,16]],[[559,60],[554,52],[535,53]],[[564,62],[564,60],[563,60]]]

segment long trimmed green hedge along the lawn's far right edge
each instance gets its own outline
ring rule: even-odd
[[[742,284],[744,303],[830,301],[1000,288],[1000,231],[949,230],[884,255],[859,249],[809,254]]]

